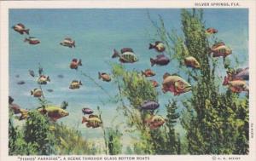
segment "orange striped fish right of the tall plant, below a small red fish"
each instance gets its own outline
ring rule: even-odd
[[[213,53],[213,57],[226,57],[232,54],[232,50],[228,46],[224,45],[224,43],[215,43],[212,46],[211,52]]]

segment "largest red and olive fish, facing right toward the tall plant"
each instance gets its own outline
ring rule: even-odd
[[[166,72],[163,76],[162,91],[166,93],[167,91],[172,92],[174,95],[180,95],[189,92],[192,87],[183,78],[177,75],[171,75]]]

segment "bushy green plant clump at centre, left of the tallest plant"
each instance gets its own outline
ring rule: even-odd
[[[166,107],[170,116],[167,116],[168,124],[158,129],[150,129],[145,124],[148,115],[157,112],[146,112],[140,110],[139,106],[143,101],[158,101],[158,93],[153,85],[137,71],[126,71],[119,64],[113,64],[113,78],[119,89],[120,108],[127,117],[128,127],[136,129],[137,141],[133,145],[133,152],[136,154],[172,154],[177,153],[177,135],[174,125],[178,115],[176,104],[168,104]],[[167,110],[168,110],[167,109]],[[173,134],[168,134],[172,131]],[[131,130],[131,133],[134,133]],[[172,139],[174,138],[175,141]],[[170,145],[172,144],[172,145]],[[170,148],[174,147],[174,148]]]

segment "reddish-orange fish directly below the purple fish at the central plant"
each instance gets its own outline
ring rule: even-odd
[[[150,115],[145,118],[144,123],[148,124],[149,129],[158,129],[166,123],[166,119],[160,115]]]

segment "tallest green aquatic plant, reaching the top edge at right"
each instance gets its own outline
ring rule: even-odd
[[[216,69],[230,69],[227,58],[209,55],[211,43],[206,35],[202,9],[182,9],[183,36],[167,32],[164,20],[154,23],[160,40],[166,43],[167,54],[177,60],[181,72],[193,84],[192,95],[183,101],[181,124],[186,131],[186,146],[190,154],[247,154],[248,152],[248,96],[225,92],[216,77]],[[217,41],[217,38],[213,38]],[[186,55],[199,60],[200,70],[182,64]],[[230,55],[234,56],[234,55]],[[221,67],[220,67],[221,66]],[[240,145],[240,146],[238,146]]]

